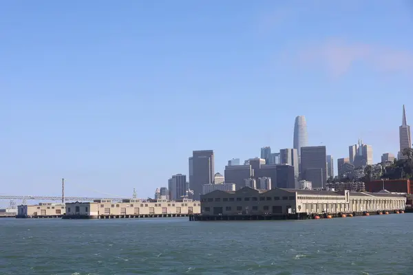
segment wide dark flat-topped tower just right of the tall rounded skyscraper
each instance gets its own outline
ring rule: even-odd
[[[326,156],[326,146],[301,147],[301,179],[311,181],[313,188],[327,182]]]

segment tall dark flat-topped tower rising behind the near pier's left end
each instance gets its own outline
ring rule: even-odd
[[[193,182],[191,182],[191,190],[193,190],[194,199],[200,199],[204,184],[212,184],[214,175],[213,164],[212,150],[192,152]]]

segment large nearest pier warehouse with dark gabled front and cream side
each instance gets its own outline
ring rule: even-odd
[[[406,197],[390,192],[334,192],[274,188],[215,190],[201,195],[202,215],[288,215],[404,210]]]

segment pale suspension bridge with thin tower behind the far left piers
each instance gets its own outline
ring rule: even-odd
[[[123,199],[137,199],[136,198],[136,190],[134,188],[134,193],[132,197],[65,197],[65,179],[62,179],[62,195],[61,196],[32,196],[32,195],[0,195],[0,200],[21,200],[22,204],[26,204],[27,200],[33,201],[61,201],[61,203],[65,203],[65,201],[94,201],[98,199],[108,199],[112,201],[121,201]],[[141,199],[142,201],[145,199]]]

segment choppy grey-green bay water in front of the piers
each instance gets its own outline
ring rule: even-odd
[[[0,219],[0,274],[413,274],[413,214]]]

